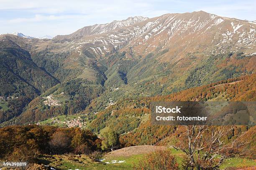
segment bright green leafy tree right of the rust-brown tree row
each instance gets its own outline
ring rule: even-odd
[[[107,133],[103,134],[104,139],[102,140],[102,150],[111,149],[114,150],[116,145],[118,144],[118,134],[115,133],[113,130],[108,131]]]

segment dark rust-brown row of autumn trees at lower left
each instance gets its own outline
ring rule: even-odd
[[[22,125],[0,128],[0,159],[35,162],[40,154],[90,154],[101,140],[89,130]]]

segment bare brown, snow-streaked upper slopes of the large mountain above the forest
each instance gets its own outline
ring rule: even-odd
[[[153,70],[158,66],[166,67],[175,77],[184,76],[211,56],[255,53],[255,34],[255,24],[244,20],[203,11],[166,14],[107,33],[67,39],[66,47],[72,58],[66,62],[82,64],[80,60],[87,56],[96,61],[108,60],[111,53],[120,50],[126,52],[126,60],[138,63],[127,74],[128,81],[155,76],[161,73],[161,69]],[[151,57],[146,58],[148,55]],[[153,73],[148,73],[148,69]]]

